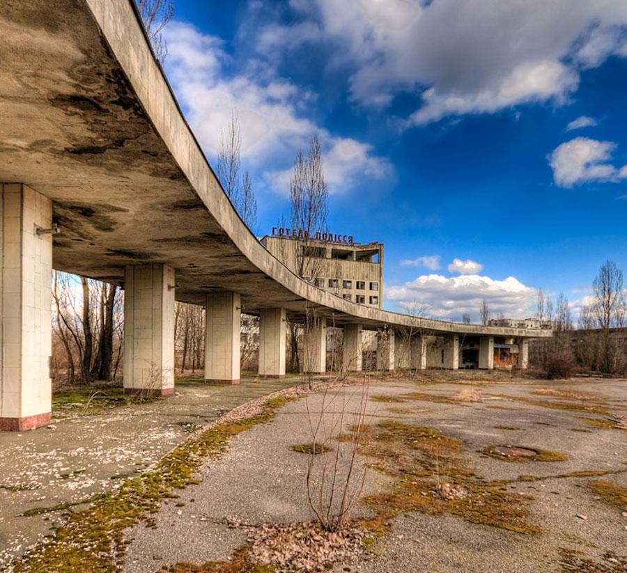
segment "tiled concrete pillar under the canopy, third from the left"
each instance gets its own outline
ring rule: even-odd
[[[205,328],[205,382],[240,383],[240,318],[237,292],[207,295]]]

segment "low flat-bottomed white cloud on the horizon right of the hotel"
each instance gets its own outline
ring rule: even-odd
[[[401,286],[389,286],[386,299],[403,310],[428,305],[428,314],[442,320],[460,320],[469,313],[479,320],[479,309],[485,300],[492,315],[527,317],[533,314],[536,289],[520,283],[513,276],[502,281],[489,276],[462,275],[446,277],[428,274]]]

